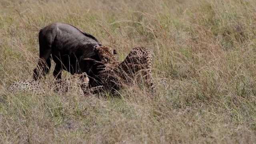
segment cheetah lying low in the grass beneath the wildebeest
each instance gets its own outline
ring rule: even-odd
[[[33,92],[35,95],[40,95],[47,94],[51,90],[60,94],[74,88],[80,96],[84,96],[88,84],[89,78],[86,72],[83,72],[82,74],[74,74],[67,80],[59,79],[54,82],[16,81],[9,86],[8,91],[12,93]]]

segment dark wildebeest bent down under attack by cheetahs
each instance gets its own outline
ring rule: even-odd
[[[56,63],[53,75],[57,79],[61,78],[63,69],[71,74],[86,72],[89,77],[97,74],[95,60],[100,61],[100,58],[94,49],[101,44],[94,36],[70,24],[55,22],[42,28],[38,39],[40,59],[34,69],[34,80],[48,74],[51,58]],[[113,53],[116,54],[116,50]]]

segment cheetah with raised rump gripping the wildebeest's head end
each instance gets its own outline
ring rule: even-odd
[[[148,87],[154,91],[152,82],[152,54],[144,47],[136,47],[131,50],[122,63],[115,60],[115,56],[102,48],[96,48],[103,66],[99,66],[98,78],[103,89],[118,90],[122,82],[128,83],[134,79],[136,72],[142,71]]]

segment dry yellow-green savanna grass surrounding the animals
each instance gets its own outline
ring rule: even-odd
[[[120,60],[148,48],[156,93],[140,82],[120,97],[7,92],[32,80],[38,32],[52,22]],[[255,143],[255,34],[254,0],[1,0],[0,143]]]

